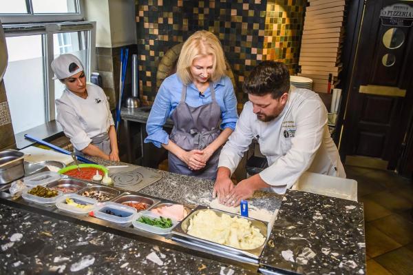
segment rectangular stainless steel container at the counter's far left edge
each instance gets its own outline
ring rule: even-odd
[[[12,149],[0,152],[0,184],[10,183],[24,176],[25,156],[27,154]]]

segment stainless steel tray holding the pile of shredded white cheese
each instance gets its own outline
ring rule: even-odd
[[[221,245],[219,243],[213,243],[211,241],[207,241],[204,240],[202,238],[197,238],[194,236],[191,236],[189,234],[187,234],[187,230],[188,230],[188,226],[189,226],[189,220],[195,216],[198,212],[200,211],[204,211],[204,210],[213,210],[215,213],[217,213],[219,216],[222,214],[228,214],[229,216],[239,216],[241,218],[246,218],[237,214],[232,214],[229,212],[224,212],[221,210],[215,210],[215,209],[211,209],[202,205],[199,205],[198,207],[196,207],[193,212],[191,212],[191,214],[189,214],[186,218],[184,218],[184,220],[177,226],[175,227],[171,234],[173,240],[175,241],[182,241],[183,243],[187,243],[189,245],[194,245],[196,247],[201,247],[204,249],[209,249],[212,250],[213,252],[219,253],[219,254],[224,254],[226,256],[230,256],[233,258],[251,258],[256,262],[261,254],[262,251],[264,250],[264,247],[266,245],[266,241],[264,241],[264,243],[260,246],[257,247],[255,249],[248,249],[248,250],[244,250],[244,249],[237,249],[234,247],[229,247],[227,245]],[[268,223],[264,222],[264,221],[258,221],[255,220],[253,218],[246,218],[249,221],[251,221],[251,224],[255,227],[257,227],[261,234],[263,236],[267,236],[267,226]]]

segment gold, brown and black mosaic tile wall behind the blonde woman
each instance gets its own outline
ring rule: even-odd
[[[298,67],[299,41],[306,0],[136,0],[140,97],[150,105],[156,96],[157,67],[167,50],[197,30],[220,39],[235,74],[239,108],[247,100],[244,76],[263,60]]]

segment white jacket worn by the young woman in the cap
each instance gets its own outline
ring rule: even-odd
[[[86,90],[86,99],[67,89],[60,99],[56,99],[56,121],[79,151],[92,142],[92,137],[108,132],[109,127],[115,124],[102,88],[88,83]]]

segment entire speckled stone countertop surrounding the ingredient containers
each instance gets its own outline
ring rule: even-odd
[[[102,165],[128,165],[91,159]],[[209,205],[212,200],[212,181],[153,171],[159,172],[162,179],[143,188],[140,193],[188,204]],[[280,274],[329,274],[329,272],[363,274],[366,272],[361,203],[298,191],[288,191],[285,197],[256,192],[251,203],[266,210],[279,210],[277,221],[260,261],[262,269]],[[30,269],[42,268],[42,271],[53,268],[55,272],[59,272],[59,268],[63,268],[59,266],[64,265],[64,273],[66,273],[71,269],[80,268],[78,266],[93,262],[89,267],[84,267],[84,270],[91,270],[94,273],[116,273],[126,268],[125,273],[143,274],[148,273],[149,270],[151,270],[149,273],[156,274],[250,272],[240,267],[224,265],[219,261],[190,256],[184,252],[142,243],[5,205],[1,205],[0,214],[1,226],[3,232],[6,232],[0,239],[2,249],[0,253],[5,255],[0,257],[3,258],[0,259],[0,263],[3,263],[0,270],[8,267],[17,272],[30,267]],[[24,243],[13,242],[12,239],[20,236],[14,234],[23,234],[21,240],[30,245],[18,249]],[[29,247],[37,249],[36,247],[41,245],[43,245],[41,252],[34,252],[32,256],[25,255],[25,250]],[[127,249],[124,248],[125,245]],[[93,249],[88,248],[89,246]],[[65,254],[66,251],[72,254]],[[157,265],[148,260],[146,257],[151,253],[156,254],[163,264]],[[53,256],[50,256],[51,254]],[[65,261],[59,257],[65,258]],[[179,262],[179,265],[175,261]]]

